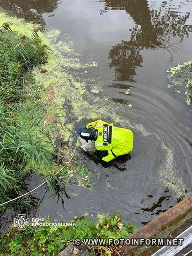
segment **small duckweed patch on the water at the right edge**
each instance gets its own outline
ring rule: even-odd
[[[182,86],[185,88],[186,103],[192,104],[192,61],[178,64],[167,70],[171,86]]]

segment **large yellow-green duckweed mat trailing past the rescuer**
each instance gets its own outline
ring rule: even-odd
[[[22,19],[9,18],[4,13],[0,14],[0,22],[12,22],[11,29],[13,31],[25,34],[28,37],[31,37],[34,29],[39,29],[37,25],[34,26],[31,23],[26,23]],[[70,44],[64,43],[63,38],[62,40],[60,39],[61,35],[58,30],[53,29],[47,32],[38,31],[38,35],[42,43],[49,48],[50,53],[48,53],[47,60],[44,64],[32,69],[31,74],[33,80],[32,83],[27,85],[26,91],[28,96],[35,96],[36,100],[34,102],[37,101],[41,106],[40,108],[36,106],[36,109],[37,113],[41,112],[41,125],[50,141],[48,149],[51,151],[53,148],[55,149],[54,141],[57,138],[69,143],[69,148],[71,148],[75,138],[75,124],[84,117],[87,119],[105,117],[106,120],[112,119],[114,123],[121,122],[125,127],[130,127],[134,131],[141,133],[143,138],[146,137],[146,140],[149,136],[155,137],[162,151],[165,152],[165,160],[162,160],[162,166],[159,166],[159,171],[160,173],[162,170],[165,173],[172,173],[172,175],[167,175],[164,179],[161,179],[160,176],[158,179],[166,187],[167,184],[172,184],[176,180],[179,181],[177,182],[179,187],[177,185],[169,187],[175,192],[176,196],[180,197],[181,193],[183,193],[183,189],[181,188],[185,187],[185,184],[173,168],[172,150],[165,146],[157,134],[149,133],[142,125],[134,123],[133,120],[130,122],[122,117],[121,112],[117,111],[121,107],[119,103],[110,101],[107,96],[102,98],[96,96],[101,91],[101,88],[96,84],[94,78],[90,78],[88,74],[91,70],[97,69],[99,64],[94,61],[82,63],[78,53],[75,53],[76,51],[73,49],[73,42],[70,42]],[[103,106],[103,102],[105,102],[105,107]],[[30,97],[22,103],[22,108],[25,108],[24,112],[26,113],[26,116],[20,114],[22,120],[27,118],[27,114],[31,116],[31,113],[27,111],[27,109],[30,109],[30,104],[34,105]],[[110,111],[108,111],[109,109]],[[132,104],[128,105],[128,111],[134,117]],[[19,119],[20,116],[18,114],[17,116]],[[53,133],[51,132],[52,128],[49,128],[49,124],[54,124]],[[65,155],[65,160],[69,160],[71,156],[68,146],[65,149],[59,149],[59,154]],[[171,157],[168,157],[170,155]],[[78,168],[77,165],[75,166],[75,168]],[[36,162],[29,161],[26,165],[26,170],[30,170],[30,168],[36,170],[38,173],[47,175],[48,173],[52,173],[52,171],[57,171],[58,165],[53,162],[52,171],[46,171],[43,163],[37,166]],[[70,167],[64,177],[69,176],[72,179],[72,174],[74,174],[71,173],[72,170],[76,169],[73,166]],[[90,177],[86,171],[83,177],[85,176]],[[77,183],[81,187],[89,187],[89,179],[86,182],[78,180]],[[86,184],[88,185],[86,186]]]

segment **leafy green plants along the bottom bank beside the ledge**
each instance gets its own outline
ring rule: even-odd
[[[49,220],[45,221],[45,227],[28,226],[25,230],[16,228],[9,229],[0,238],[0,256],[53,256],[66,248],[75,239],[84,238],[127,238],[137,229],[130,222],[122,222],[122,216],[115,214],[107,217],[98,214],[96,223],[91,219],[80,216],[70,221],[68,226],[49,226]],[[72,225],[74,224],[74,225]],[[46,226],[47,225],[47,226]],[[90,255],[101,253],[103,256],[110,256],[112,253],[120,253],[120,247],[115,245],[94,246],[87,245]]]

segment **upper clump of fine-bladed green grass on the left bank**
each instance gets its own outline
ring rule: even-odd
[[[37,32],[29,38],[6,28],[0,32],[0,99],[8,103],[23,98],[25,82],[32,78],[28,71],[45,63],[48,47]]]

